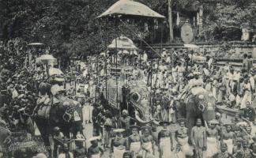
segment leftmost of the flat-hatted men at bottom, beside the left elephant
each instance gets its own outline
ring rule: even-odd
[[[75,139],[75,144],[77,145],[77,148],[73,150],[74,158],[83,158],[87,156],[87,150],[84,147],[84,142],[85,142],[85,139],[83,138]]]

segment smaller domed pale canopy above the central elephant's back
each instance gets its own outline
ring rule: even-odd
[[[137,50],[138,48],[134,45],[134,42],[126,36],[120,36],[112,41],[107,48],[118,48],[125,50]]]

